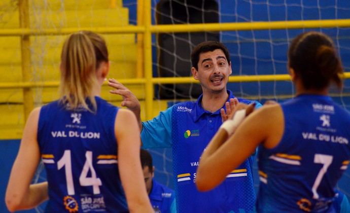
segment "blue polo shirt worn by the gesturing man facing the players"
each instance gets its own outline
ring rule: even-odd
[[[227,90],[228,100],[234,98]],[[147,148],[172,148],[174,191],[178,212],[250,212],[256,195],[253,184],[251,156],[226,180],[209,192],[199,192],[195,186],[199,158],[222,124],[220,110],[211,113],[196,102],[173,105],[153,120],[143,122],[141,138]],[[250,104],[252,100],[238,98]],[[257,102],[256,108],[261,107]],[[225,104],[223,107],[225,110]]]

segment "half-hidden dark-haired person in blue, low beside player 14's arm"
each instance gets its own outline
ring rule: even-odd
[[[155,213],[176,213],[174,191],[154,180],[154,166],[151,154],[140,150],[141,165],[144,172],[148,197]]]

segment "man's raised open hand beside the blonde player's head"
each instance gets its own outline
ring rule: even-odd
[[[108,80],[108,86],[113,87],[115,90],[110,90],[110,93],[121,95],[123,97],[123,101],[121,102],[122,107],[126,107],[134,113],[138,113],[141,111],[141,105],[136,96],[123,84],[118,82],[115,79]]]

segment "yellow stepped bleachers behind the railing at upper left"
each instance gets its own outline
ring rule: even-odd
[[[10,0],[0,3],[0,27],[19,28],[19,10]],[[30,28],[89,28],[129,25],[129,11],[122,0],[29,0]],[[67,35],[33,35],[30,37],[32,82],[59,81],[59,62],[62,44]],[[126,79],[136,76],[135,34],[106,34],[111,69],[109,78]],[[0,83],[22,82],[20,37],[0,37]],[[137,95],[144,88],[131,86]],[[121,97],[109,94],[104,86],[102,97],[116,104]],[[32,88],[34,105],[58,97],[58,88]],[[0,89],[0,139],[20,138],[24,125],[23,89]]]

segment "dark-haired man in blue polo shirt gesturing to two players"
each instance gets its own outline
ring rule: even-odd
[[[174,104],[153,120],[141,122],[141,106],[136,96],[114,79],[111,93],[123,96],[121,105],[139,119],[144,148],[172,148],[174,191],[178,212],[250,212],[256,195],[252,165],[254,156],[227,175],[226,180],[209,192],[195,186],[199,157],[235,104],[256,102],[235,98],[226,85],[232,74],[230,54],[220,42],[203,42],[191,53],[192,75],[203,94],[196,102]],[[261,104],[256,102],[256,108]]]

